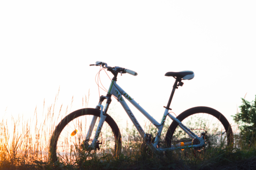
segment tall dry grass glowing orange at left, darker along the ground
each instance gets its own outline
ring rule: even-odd
[[[35,109],[34,116],[25,120],[22,116],[0,122],[0,169],[253,169],[256,166],[256,143],[246,143],[240,136],[239,125],[233,125],[233,147],[217,147],[195,156],[193,150],[175,150],[153,153],[145,146],[137,130],[132,126],[120,127],[122,151],[117,156],[109,153],[91,154],[90,159],[80,155],[75,162],[52,162],[49,159],[49,139],[64,115],[62,106],[56,111],[55,102],[43,115]],[[85,98],[85,107],[87,105]],[[83,99],[84,101],[84,99]],[[71,103],[72,105],[72,103]],[[83,104],[84,105],[84,104]],[[63,116],[61,116],[63,115]],[[115,119],[113,117],[113,119]],[[8,123],[8,122],[11,122]],[[168,119],[163,133],[170,125]],[[145,132],[155,134],[156,128],[145,123]],[[160,145],[164,144],[164,135]]]

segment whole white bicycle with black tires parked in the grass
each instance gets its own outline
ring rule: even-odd
[[[111,104],[111,96],[120,102],[147,147],[150,147],[154,152],[184,150],[186,148],[201,152],[209,147],[232,147],[232,128],[227,119],[215,109],[203,106],[190,108],[180,113],[176,118],[169,112],[172,110],[170,105],[175,90],[179,86],[183,86],[182,80],[194,78],[193,71],[167,72],[165,74],[167,77],[174,77],[175,83],[168,104],[164,106],[166,109],[163,118],[159,123],[116,83],[119,73],[137,76],[136,72],[117,66],[109,67],[105,62],[96,62],[92,65],[100,66],[100,71],[107,69],[113,74],[107,95],[100,96],[96,108],[83,108],[74,111],[64,117],[56,126],[49,146],[53,161],[63,161],[64,159],[75,161],[75,157],[81,154],[96,153],[102,156],[106,153],[115,155],[120,152],[122,148],[121,134],[116,122],[107,113]],[[125,99],[131,102],[158,129],[155,136],[144,132]],[[105,107],[102,105],[104,100],[106,100]],[[167,116],[173,122],[166,133],[165,144],[160,147],[161,132]],[[91,138],[91,136],[94,137]]]

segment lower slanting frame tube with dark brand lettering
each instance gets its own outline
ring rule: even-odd
[[[120,92],[118,90],[116,90],[116,92],[113,93],[114,96],[116,96],[119,99],[119,102],[121,103],[122,107],[125,109],[126,113],[128,114],[128,116],[130,117],[131,121],[133,122],[134,126],[136,127],[136,129],[138,130],[138,132],[140,133],[140,136],[143,137],[143,139],[145,138],[145,132],[142,129],[142,127],[140,126],[139,122],[137,121],[136,117],[134,116],[134,114],[131,112],[131,109],[128,107],[128,105],[126,104],[125,100],[122,98],[122,95],[119,94]]]

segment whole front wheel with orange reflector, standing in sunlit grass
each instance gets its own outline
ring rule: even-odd
[[[92,130],[90,139],[86,139],[87,132],[93,117],[96,123]],[[74,163],[79,156],[103,156],[114,155],[121,149],[121,134],[116,122],[107,114],[105,122],[99,134],[96,150],[89,150],[89,146],[95,136],[99,124],[100,111],[94,108],[84,108],[67,115],[56,126],[50,140],[50,158],[52,161]],[[91,154],[91,153],[95,154]]]

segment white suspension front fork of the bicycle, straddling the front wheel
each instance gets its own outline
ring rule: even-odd
[[[102,102],[104,101],[104,99],[107,99],[107,104],[105,106],[105,110],[103,111]],[[100,132],[102,130],[103,123],[105,122],[105,119],[107,117],[106,115],[107,115],[107,111],[108,111],[108,106],[111,103],[111,97],[109,97],[109,96],[101,96],[99,100],[100,100],[99,104],[96,106],[96,109],[100,109],[99,125],[98,125],[98,127],[96,129],[96,133],[95,133],[95,135],[93,137],[93,142],[89,146],[89,147],[92,147],[94,150],[96,150],[96,147],[95,147],[96,142],[99,142],[98,141],[99,134],[100,134]],[[86,140],[90,139],[97,118],[98,118],[97,116],[93,116],[93,119],[92,119],[92,121],[90,123],[89,130],[88,130],[87,135],[86,135]]]

